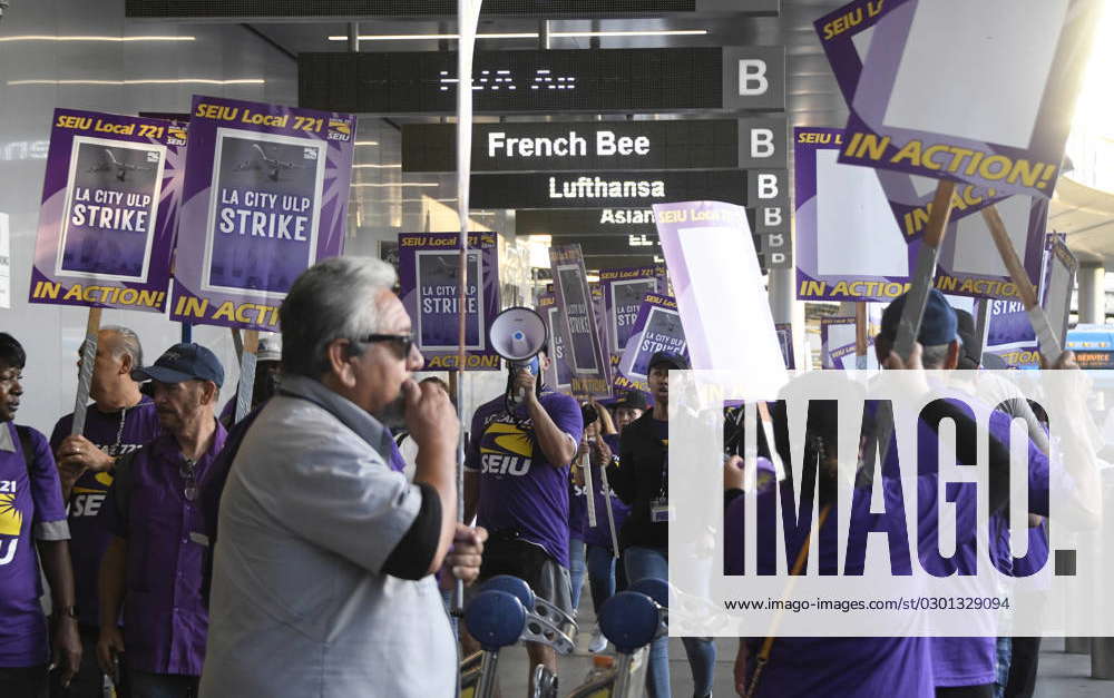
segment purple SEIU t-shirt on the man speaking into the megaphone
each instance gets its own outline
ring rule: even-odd
[[[580,406],[561,393],[541,395],[541,406],[557,429],[580,442]],[[465,468],[480,473],[479,525],[496,532],[517,530],[568,567],[569,468],[555,468],[538,445],[526,405],[506,413],[499,396],[472,416]]]

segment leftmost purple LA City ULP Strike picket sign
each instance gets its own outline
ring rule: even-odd
[[[170,121],[55,110],[30,303],[166,309],[185,145]]]

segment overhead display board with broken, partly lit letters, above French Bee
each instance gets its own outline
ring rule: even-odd
[[[455,51],[300,53],[299,105],[450,115]],[[478,114],[785,108],[784,47],[476,51]]]

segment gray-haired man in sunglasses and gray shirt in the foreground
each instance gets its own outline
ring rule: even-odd
[[[460,424],[444,391],[410,379],[422,356],[393,285],[381,260],[336,257],[283,302],[283,381],[221,498],[202,696],[453,692],[432,574],[475,579],[486,534],[457,524]],[[400,395],[412,484],[374,416]]]

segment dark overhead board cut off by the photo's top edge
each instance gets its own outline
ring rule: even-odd
[[[779,0],[485,0],[481,14],[616,17],[666,12],[773,16]],[[457,0],[127,0],[136,18],[455,17]]]

